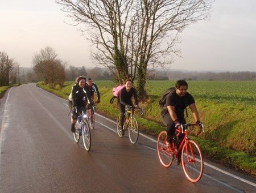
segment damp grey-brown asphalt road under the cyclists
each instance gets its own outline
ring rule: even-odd
[[[193,184],[181,166],[160,164],[155,138],[133,145],[100,114],[86,152],[73,140],[67,100],[33,83],[9,89],[0,110],[0,192],[256,192],[255,178],[208,160]]]

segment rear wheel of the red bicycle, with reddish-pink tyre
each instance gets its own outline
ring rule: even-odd
[[[158,157],[160,163],[165,167],[169,168],[172,165],[172,153],[167,151],[166,146],[167,132],[162,131],[158,135]]]

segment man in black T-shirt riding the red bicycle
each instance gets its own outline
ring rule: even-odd
[[[202,124],[199,119],[195,100],[193,96],[187,92],[187,89],[188,83],[185,82],[185,80],[177,80],[174,91],[167,95],[166,104],[164,105],[167,106],[167,109],[161,111],[163,123],[167,126],[167,150],[171,152],[174,151],[173,136],[175,128],[180,128],[182,123],[186,123],[184,110],[187,106],[191,109],[196,124]],[[180,140],[183,139],[183,136],[180,136]]]

